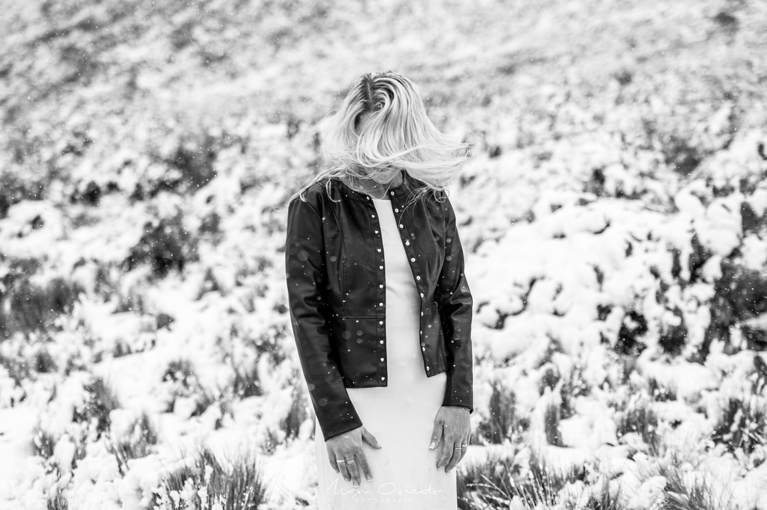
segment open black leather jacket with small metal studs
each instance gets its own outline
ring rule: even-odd
[[[389,190],[421,297],[420,344],[427,377],[447,372],[443,406],[472,413],[472,296],[447,196],[404,208],[423,183],[403,173]],[[384,245],[367,195],[315,183],[288,206],[285,271],[291,324],[324,439],[362,425],[346,388],[387,386]]]

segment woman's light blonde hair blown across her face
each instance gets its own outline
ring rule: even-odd
[[[370,119],[357,135],[360,116],[367,112]],[[324,123],[321,154],[328,168],[295,196],[304,199],[304,192],[323,180],[331,196],[331,181],[342,177],[347,186],[364,192],[356,185],[358,179],[401,169],[420,181],[414,201],[429,190],[443,191],[471,159],[469,148],[469,143],[451,140],[434,126],[407,77],[391,71],[363,74]]]

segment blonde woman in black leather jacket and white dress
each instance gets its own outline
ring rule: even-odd
[[[391,72],[357,80],[323,139],[334,164],[291,199],[285,244],[318,507],[455,510],[472,297],[444,189],[468,146]]]

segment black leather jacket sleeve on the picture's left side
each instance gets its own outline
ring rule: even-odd
[[[314,413],[327,441],[356,429],[362,421],[349,399],[331,349],[322,222],[311,203],[300,198],[290,203],[285,272],[298,357]]]

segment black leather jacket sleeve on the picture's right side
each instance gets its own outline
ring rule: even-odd
[[[473,413],[472,294],[463,273],[463,248],[456,228],[456,214],[447,196],[443,196],[445,260],[437,283],[447,351],[447,387],[442,405],[466,406],[469,413]]]

